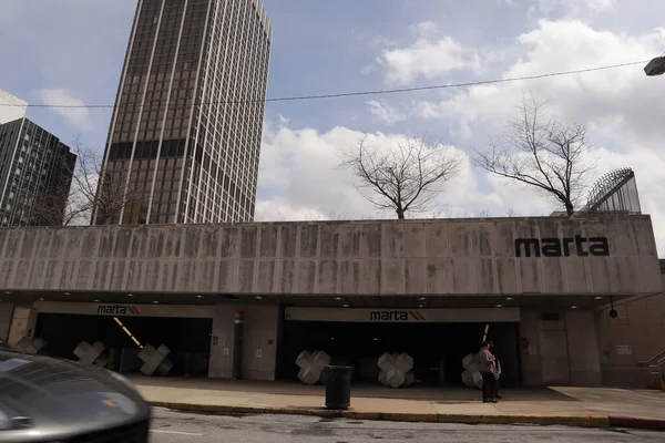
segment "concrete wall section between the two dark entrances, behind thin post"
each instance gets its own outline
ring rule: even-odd
[[[217,306],[213,318],[208,377],[233,377],[235,311],[243,311],[243,379],[275,380],[279,308],[277,306]]]

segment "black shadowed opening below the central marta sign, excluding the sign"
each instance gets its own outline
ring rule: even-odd
[[[478,352],[487,323],[371,323],[285,321],[277,375],[297,380],[298,354],[326,351],[332,364],[354,367],[355,383],[378,384],[378,359],[385,352],[413,358],[416,380],[426,385],[461,384],[462,359]],[[520,384],[518,323],[489,323],[503,373],[501,384]]]

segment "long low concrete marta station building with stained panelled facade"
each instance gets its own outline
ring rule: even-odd
[[[0,229],[0,333],[59,357],[99,340],[129,361],[120,321],[173,374],[295,379],[326,350],[376,381],[406,351],[456,383],[489,328],[505,385],[600,385],[623,349],[605,306],[663,281],[651,218],[624,215]]]

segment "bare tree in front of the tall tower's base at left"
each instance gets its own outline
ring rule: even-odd
[[[98,223],[111,224],[124,207],[143,204],[141,190],[132,185],[125,188],[126,171],[105,171],[99,186],[102,162],[98,152],[79,141],[72,152],[76,155],[75,163],[62,158],[58,167],[63,176],[71,176],[71,186],[65,179],[55,182],[54,192],[35,203],[33,224],[88,225],[93,213],[96,213]]]

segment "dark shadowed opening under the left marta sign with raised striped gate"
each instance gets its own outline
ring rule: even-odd
[[[117,319],[117,320],[116,320]],[[207,377],[213,320],[207,318],[106,317],[72,313],[44,313],[37,319],[35,337],[48,346],[41,353],[79,360],[74,349],[81,341],[106,344],[108,368],[139,373],[141,346],[155,349],[165,344],[174,363],[167,375]],[[129,333],[127,333],[129,331]]]

